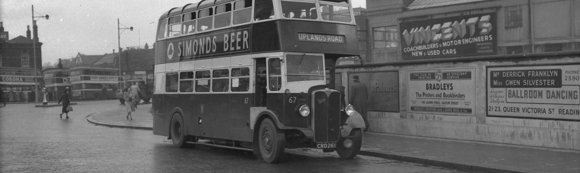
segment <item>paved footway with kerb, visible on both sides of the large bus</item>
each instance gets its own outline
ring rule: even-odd
[[[153,130],[151,104],[126,120],[124,106],[87,117],[109,127]],[[469,172],[580,172],[580,151],[364,132],[359,154]]]

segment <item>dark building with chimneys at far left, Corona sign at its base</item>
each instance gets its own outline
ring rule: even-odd
[[[33,38],[27,26],[26,37],[10,39],[0,22],[0,87],[8,102],[34,101],[35,84],[43,83],[42,43],[38,42],[38,28],[33,28]]]

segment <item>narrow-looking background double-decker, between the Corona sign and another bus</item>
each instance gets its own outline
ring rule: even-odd
[[[64,90],[71,87],[71,82],[68,80],[68,69],[49,69],[44,71],[43,75],[49,101],[58,100]]]

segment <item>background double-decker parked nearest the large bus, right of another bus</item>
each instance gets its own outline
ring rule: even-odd
[[[74,100],[115,98],[119,87],[119,69],[99,67],[75,67],[69,70]],[[103,85],[107,87],[105,95]]]

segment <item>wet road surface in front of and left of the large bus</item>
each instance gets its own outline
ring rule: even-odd
[[[93,113],[124,106],[116,100],[77,103],[70,119],[59,118],[60,106],[0,106],[0,172],[459,172],[369,156],[345,160],[317,149],[287,149],[279,164],[242,150],[178,149],[150,130],[86,121]],[[133,115],[139,116],[150,115]]]

